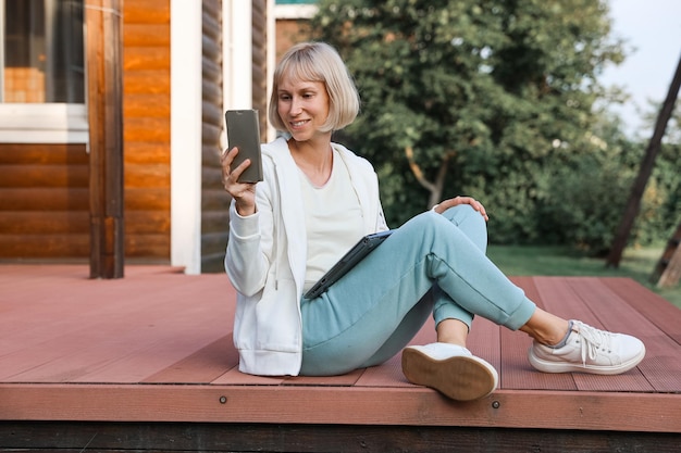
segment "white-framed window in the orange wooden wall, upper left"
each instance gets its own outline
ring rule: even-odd
[[[83,3],[0,0],[0,142],[87,141]]]

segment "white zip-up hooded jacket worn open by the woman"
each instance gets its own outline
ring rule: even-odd
[[[364,232],[387,229],[371,164],[340,144],[332,147],[350,174]],[[234,343],[240,372],[296,376],[302,361],[307,232],[298,169],[285,138],[262,146],[262,169],[256,214],[238,215],[234,201],[230,207],[225,269],[237,290]]]

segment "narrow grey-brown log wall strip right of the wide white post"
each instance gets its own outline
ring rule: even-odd
[[[224,272],[230,197],[222,185],[222,0],[202,2],[201,272]]]

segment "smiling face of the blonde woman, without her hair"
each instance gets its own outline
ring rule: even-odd
[[[278,86],[276,110],[296,141],[329,134],[319,130],[329,117],[329,95],[322,81],[284,78]]]

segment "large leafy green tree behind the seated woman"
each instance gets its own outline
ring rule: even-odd
[[[313,37],[362,97],[343,140],[376,166],[388,221],[467,193],[493,238],[536,239],[546,175],[607,160],[590,131],[597,75],[623,58],[607,13],[598,0],[321,0]]]

